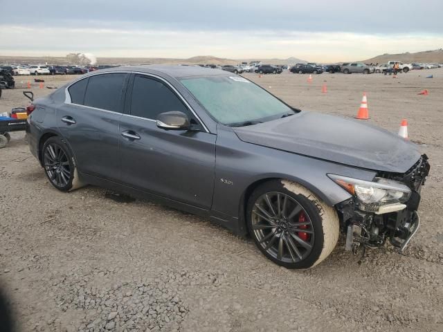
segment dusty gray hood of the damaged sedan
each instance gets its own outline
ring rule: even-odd
[[[404,173],[420,157],[413,143],[395,133],[309,111],[233,130],[244,142],[384,172]]]

